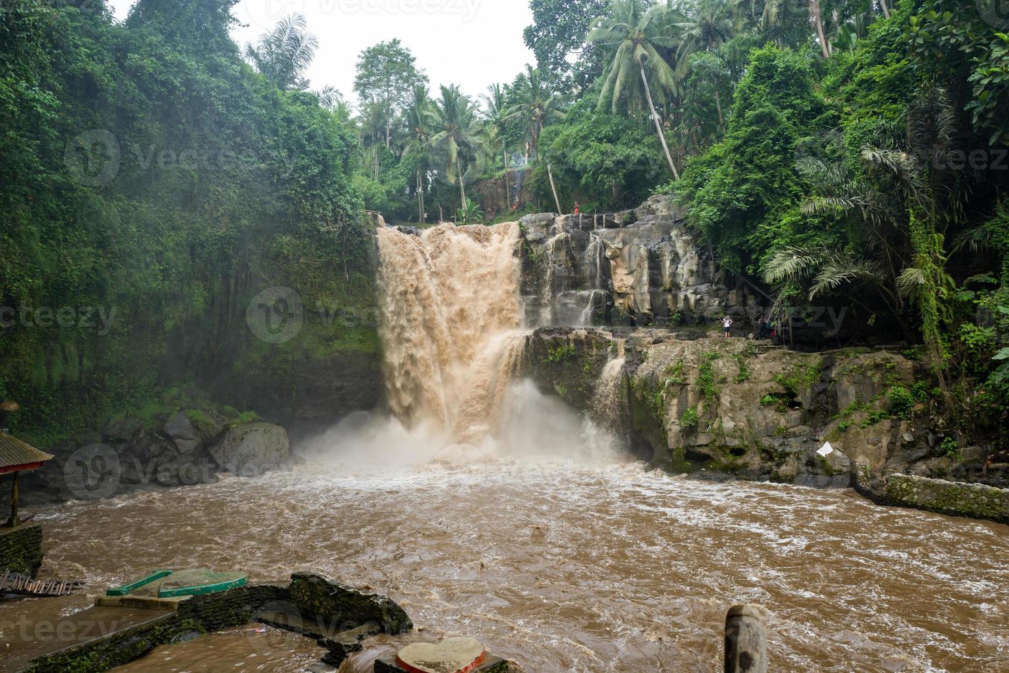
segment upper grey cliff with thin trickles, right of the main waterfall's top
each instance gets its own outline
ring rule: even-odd
[[[666,197],[607,215],[521,221],[523,296],[534,325],[693,326],[756,311],[754,293],[720,272]]]

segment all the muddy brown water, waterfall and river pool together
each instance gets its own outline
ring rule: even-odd
[[[529,673],[714,671],[740,602],[766,608],[775,671],[1009,670],[1009,528],[649,471],[558,398],[513,385],[518,231],[379,228],[393,418],[345,419],[291,473],[43,510],[43,575],[94,594],[164,567],[310,570],[400,602],[419,634],[368,641],[341,673],[448,635]],[[603,425],[621,415],[611,357],[589,414]],[[0,623],[91,600],[6,603]],[[123,670],[303,671],[321,654],[248,628]]]

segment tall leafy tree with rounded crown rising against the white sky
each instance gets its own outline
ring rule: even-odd
[[[393,143],[393,121],[410,104],[414,88],[428,84],[416,61],[399,39],[368,47],[357,59],[354,92],[362,105],[375,104],[384,111],[386,147]]]

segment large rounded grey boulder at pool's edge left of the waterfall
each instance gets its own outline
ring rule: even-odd
[[[249,423],[232,428],[210,449],[222,472],[253,476],[288,469],[295,462],[288,431],[269,423]]]

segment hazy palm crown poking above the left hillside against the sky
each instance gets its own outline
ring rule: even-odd
[[[319,40],[308,31],[301,14],[281,19],[270,32],[259,36],[255,46],[245,45],[245,58],[278,89],[304,91],[308,81],[302,75],[312,65]]]

